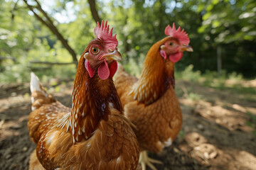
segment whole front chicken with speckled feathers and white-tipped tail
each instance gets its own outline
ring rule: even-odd
[[[95,35],[105,29],[108,33],[107,23]],[[112,30],[109,39],[114,45],[97,37],[80,57],[72,108],[48,95],[38,77],[31,74],[33,112],[28,130],[37,147],[31,154],[29,169],[137,168],[137,138],[132,123],[122,113],[112,81],[115,60],[122,59],[114,38]]]

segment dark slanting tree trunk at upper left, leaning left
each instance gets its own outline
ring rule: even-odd
[[[50,17],[46,13],[46,11],[43,11],[41,4],[39,4],[39,2],[37,0],[35,0],[36,4],[38,4],[36,6],[36,8],[39,11],[41,11],[41,13],[43,13],[43,16],[46,18],[46,21],[43,18],[41,18],[41,16],[38,16],[38,14],[34,11],[33,6],[29,5],[27,0],[23,0],[23,1],[26,3],[28,8],[33,12],[33,14],[36,16],[36,18],[38,18],[38,20],[41,21],[41,23],[43,23],[43,25],[47,26],[50,29],[50,31],[54,35],[57,36],[58,40],[60,40],[60,42],[65,47],[65,49],[67,49],[68,52],[70,53],[70,55],[72,56],[73,62],[78,63],[78,59],[76,57],[75,51],[73,50],[72,47],[70,47],[70,45],[68,45],[68,40],[65,40],[65,38],[63,38],[63,35],[60,34],[60,32],[58,31],[58,28],[56,28],[56,26],[53,25],[53,21],[51,21]]]

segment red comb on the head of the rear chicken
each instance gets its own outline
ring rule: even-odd
[[[175,23],[173,23],[173,28],[171,26],[166,26],[166,29],[164,30],[164,33],[166,35],[169,35],[171,37],[175,37],[181,42],[181,44],[188,45],[190,40],[188,38],[188,34],[183,30],[181,30],[181,27],[178,27],[178,30],[176,30]]]

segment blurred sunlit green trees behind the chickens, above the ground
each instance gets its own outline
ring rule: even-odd
[[[0,81],[28,81],[31,70],[40,77],[74,76],[75,64],[64,63],[79,60],[102,19],[114,27],[123,64],[134,75],[164,28],[176,23],[194,50],[176,71],[254,79],[255,6],[253,0],[1,0]]]

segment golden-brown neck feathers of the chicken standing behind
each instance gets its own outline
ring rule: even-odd
[[[174,63],[164,60],[160,46],[166,38],[156,42],[149,50],[142,67],[142,75],[131,91],[134,100],[149,105],[164,95],[170,84],[174,87]]]

